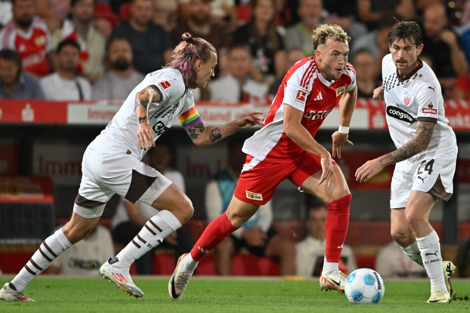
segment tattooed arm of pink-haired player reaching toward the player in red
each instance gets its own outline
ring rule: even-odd
[[[199,116],[199,113],[196,110],[194,110],[193,114],[197,115],[197,118],[194,118],[193,116],[191,124],[185,124],[181,119],[180,122],[183,124],[184,129],[193,143],[199,147],[213,145],[214,143],[231,136],[240,129],[263,124],[263,117],[261,116],[262,112],[260,111],[245,113],[237,119],[234,119],[222,126],[208,126],[204,123],[202,117]]]

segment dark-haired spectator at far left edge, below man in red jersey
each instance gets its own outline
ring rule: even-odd
[[[38,78],[23,73],[15,50],[0,51],[0,99],[44,99]]]

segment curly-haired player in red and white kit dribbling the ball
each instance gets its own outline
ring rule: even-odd
[[[344,291],[338,263],[349,222],[351,194],[338,164],[314,137],[339,103],[340,128],[332,135],[333,157],[341,157],[357,98],[355,71],[347,63],[350,38],[338,25],[318,25],[315,57],[297,62],[284,77],[262,128],[245,141],[247,156],[228,209],[215,218],[171,276],[171,299],[180,299],[199,260],[240,228],[274,190],[289,179],[327,204],[325,262],[320,289]]]

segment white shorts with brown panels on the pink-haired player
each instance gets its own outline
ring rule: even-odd
[[[101,216],[114,194],[152,205],[170,185],[168,178],[132,154],[86,148],[74,212],[85,218]]]

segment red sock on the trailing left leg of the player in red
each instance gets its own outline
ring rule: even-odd
[[[225,212],[214,219],[206,227],[202,235],[191,250],[191,256],[195,261],[199,261],[208,254],[223,239],[236,230],[228,219]]]

